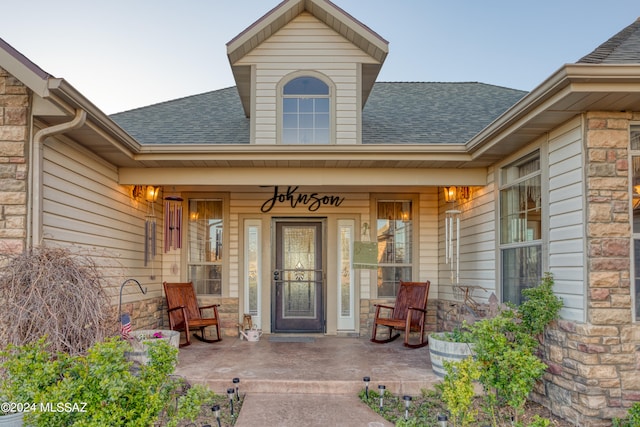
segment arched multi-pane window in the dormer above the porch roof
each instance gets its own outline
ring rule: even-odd
[[[282,143],[329,144],[329,85],[310,76],[297,77],[282,89]]]

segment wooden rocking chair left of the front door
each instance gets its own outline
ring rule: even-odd
[[[191,344],[189,339],[189,331],[193,329],[200,330],[200,336],[193,336],[204,342],[218,342],[220,337],[220,324],[218,317],[218,307],[220,304],[198,306],[196,293],[193,289],[193,283],[167,283],[163,282],[164,293],[167,297],[167,312],[169,314],[169,327],[172,331],[184,331],[187,342],[180,344],[184,347]],[[213,317],[203,317],[202,311],[213,309]],[[216,336],[218,339],[212,340],[204,337],[204,328],[209,326],[216,327]]]

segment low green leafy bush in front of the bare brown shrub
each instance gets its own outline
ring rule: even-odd
[[[149,363],[139,369],[126,359],[128,351],[130,344],[120,338],[97,343],[77,356],[53,355],[44,339],[10,346],[2,354],[0,397],[39,405],[25,414],[28,425],[147,427],[161,414],[169,425],[197,415],[194,408],[199,410],[213,395],[194,387],[181,396],[186,384],[171,375],[178,349],[165,341],[149,342]],[[68,406],[55,410],[58,403]],[[41,404],[54,406],[42,410]]]

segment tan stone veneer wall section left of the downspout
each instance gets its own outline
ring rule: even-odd
[[[0,68],[0,253],[20,253],[27,229],[29,93]]]

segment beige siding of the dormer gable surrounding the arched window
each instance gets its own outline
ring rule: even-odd
[[[255,141],[252,142],[276,143],[278,83],[293,72],[314,70],[330,79],[335,87],[336,143],[358,143],[360,64],[373,62],[370,56],[312,15],[298,16],[237,64],[255,64],[252,113]]]

